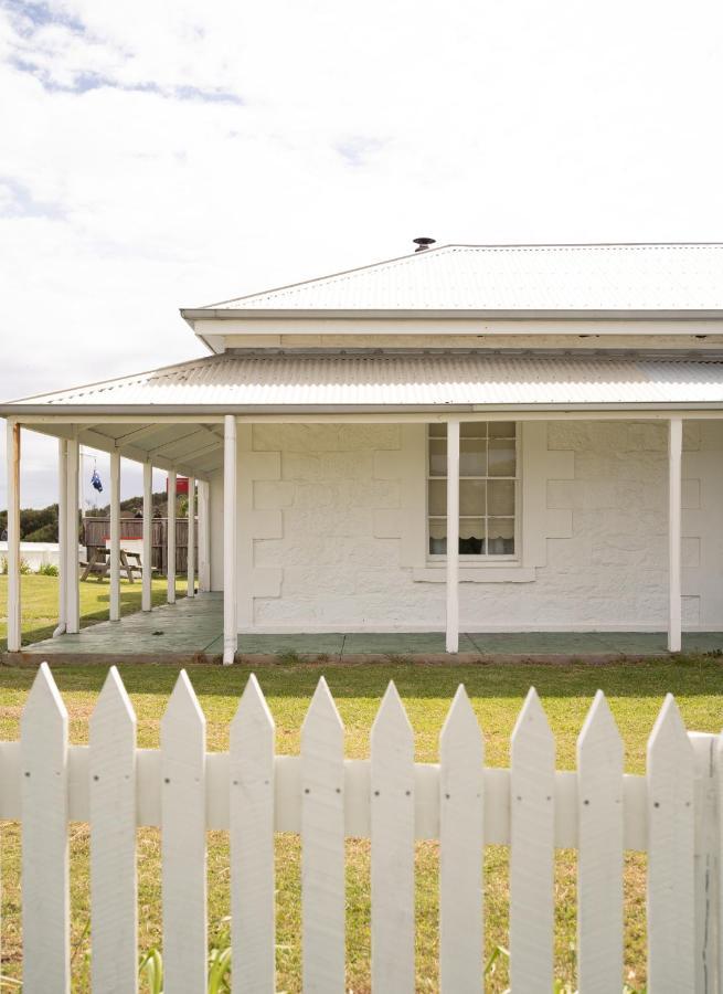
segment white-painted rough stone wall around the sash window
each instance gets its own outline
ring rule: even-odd
[[[467,631],[663,630],[667,424],[528,422],[512,565],[464,568]],[[212,578],[222,585],[222,485]],[[723,627],[723,423],[684,431],[683,624]],[[240,426],[240,628],[433,631],[424,425]]]

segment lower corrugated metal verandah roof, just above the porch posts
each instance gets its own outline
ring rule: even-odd
[[[225,353],[3,405],[67,410],[723,404],[723,360],[444,353]]]

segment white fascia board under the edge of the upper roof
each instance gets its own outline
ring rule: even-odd
[[[331,315],[286,311],[283,316],[254,316],[217,311],[193,321],[195,335],[211,351],[233,347],[234,336],[279,335],[716,335],[723,334],[723,314],[701,317],[647,315],[618,318],[562,314],[532,318],[421,313],[414,316],[385,314]]]

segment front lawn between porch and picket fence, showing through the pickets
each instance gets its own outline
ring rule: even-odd
[[[159,722],[173,686],[177,668],[167,665],[120,666],[138,716],[141,747],[157,747]],[[557,740],[559,769],[575,763],[575,739],[596,688],[608,695],[627,747],[627,770],[645,768],[646,740],[663,695],[672,691],[689,729],[720,731],[723,725],[723,662],[715,657],[689,657],[676,662],[646,662],[588,666],[424,664],[315,665],[279,662],[262,667],[258,677],[277,727],[277,750],[295,753],[306,708],[323,670],[347,729],[347,755],[369,754],[369,731],[387,680],[394,679],[416,733],[418,761],[437,759],[437,739],[456,686],[464,683],[485,729],[487,763],[506,765],[509,736],[531,684],[536,686]],[[235,666],[189,667],[191,680],[208,719],[209,748],[227,748],[228,722],[248,676]],[[14,739],[23,700],[33,678],[28,669],[0,668],[0,725],[3,739]],[[71,718],[74,742],[87,741],[88,717],[105,678],[105,668],[56,666],[59,683]],[[3,826],[2,838],[2,945],[3,972],[21,971],[19,858],[15,824]],[[155,829],[139,832],[140,948],[160,943],[159,838]],[[370,990],[369,843],[350,839],[348,852],[347,943],[348,990]],[[71,827],[73,908],[73,990],[88,990],[88,831]],[[299,844],[283,835],[277,844],[278,990],[300,990]],[[437,990],[437,847],[417,847],[417,991]],[[487,849],[486,909],[488,950],[507,943],[508,854],[503,847]],[[574,977],[575,858],[568,850],[556,863],[556,973]],[[224,833],[209,839],[209,901],[211,933],[225,928],[228,913],[228,861]],[[626,972],[631,986],[645,983],[645,858],[628,854],[626,866]],[[507,985],[506,964],[488,990]]]

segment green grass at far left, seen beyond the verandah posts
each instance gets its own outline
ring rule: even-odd
[[[42,573],[26,573],[21,577],[20,600],[22,605],[22,641],[24,645],[50,638],[57,625],[57,577],[45,577]],[[185,595],[185,578],[177,578],[176,589],[179,596]],[[153,606],[166,601],[166,580],[152,581]],[[110,600],[110,582],[108,580],[87,580],[79,584],[81,591],[81,627],[108,620]],[[140,580],[129,583],[120,580],[120,613],[131,614],[140,611]],[[0,574],[0,652],[8,647],[8,577]]]

